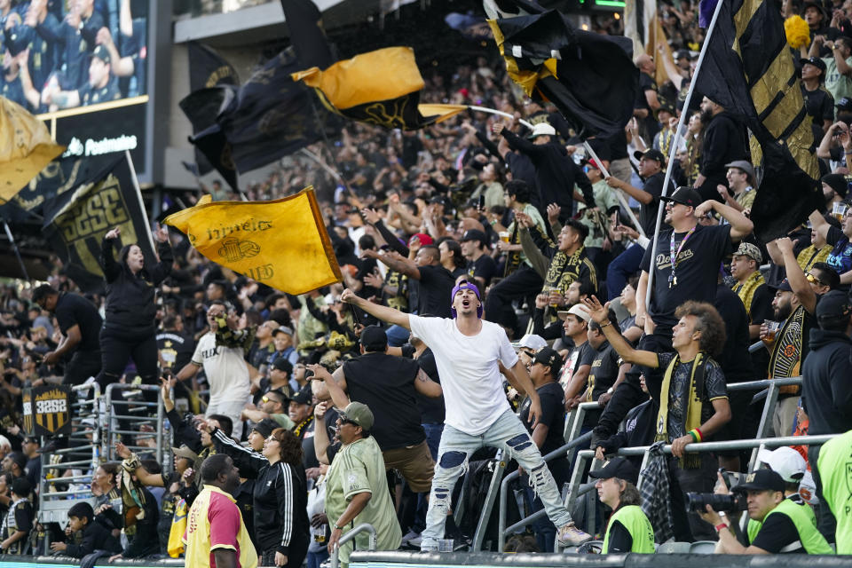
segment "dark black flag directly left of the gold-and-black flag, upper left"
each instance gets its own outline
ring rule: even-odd
[[[237,171],[255,170],[320,138],[312,93],[290,77],[299,68],[292,50],[281,51],[241,86],[235,104],[220,114]]]

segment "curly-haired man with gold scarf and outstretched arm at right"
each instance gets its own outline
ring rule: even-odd
[[[675,539],[715,540],[713,525],[696,513],[687,515],[685,494],[713,491],[716,461],[711,454],[690,453],[686,447],[708,441],[730,421],[725,375],[714,359],[725,343],[722,316],[706,302],[685,302],[675,311],[675,352],[641,351],[631,347],[611,324],[609,304],[601,305],[595,296],[584,302],[624,362],[666,369],[659,390],[655,439],[672,445],[668,470]]]

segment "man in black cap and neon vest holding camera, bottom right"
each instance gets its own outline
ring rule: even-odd
[[[701,514],[719,533],[716,552],[721,554],[834,554],[823,535],[817,531],[807,505],[785,499],[784,478],[776,471],[760,469],[746,476],[745,483],[731,487],[735,493],[746,493],[748,516],[761,523],[756,534],[750,534],[744,547],[709,505]]]

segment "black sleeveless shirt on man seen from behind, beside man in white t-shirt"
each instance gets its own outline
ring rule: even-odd
[[[373,411],[370,433],[382,451],[426,439],[414,390],[419,372],[416,361],[386,353],[365,353],[343,363],[350,398]]]

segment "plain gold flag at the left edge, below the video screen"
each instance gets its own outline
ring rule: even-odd
[[[0,199],[9,201],[65,152],[47,126],[18,103],[0,97]]]

